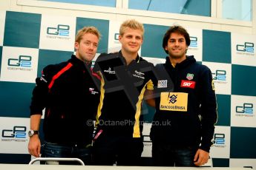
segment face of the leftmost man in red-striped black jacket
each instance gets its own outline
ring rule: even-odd
[[[80,42],[75,43],[76,57],[84,62],[91,62],[98,48],[99,38],[92,33],[82,35]]]

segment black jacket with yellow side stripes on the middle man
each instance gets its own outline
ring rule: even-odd
[[[142,137],[142,99],[153,89],[154,65],[137,56],[126,64],[122,52],[102,54],[93,70],[102,75],[97,129],[111,135]]]

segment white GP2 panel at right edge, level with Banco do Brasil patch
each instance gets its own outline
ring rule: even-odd
[[[231,126],[256,127],[255,106],[255,96],[232,95]]]

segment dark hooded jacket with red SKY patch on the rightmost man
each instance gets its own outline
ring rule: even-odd
[[[158,90],[188,94],[188,103],[186,112],[177,111],[182,109],[178,107],[175,111],[163,110],[160,109],[163,105],[160,105],[158,95],[155,100],[154,122],[160,122],[161,125],[167,122],[167,125],[155,126],[154,123],[151,127],[151,140],[174,146],[200,146],[200,149],[209,152],[214,135],[214,123],[217,121],[217,103],[211,70],[198,64],[194,56],[187,56],[186,60],[177,64],[175,68],[167,57],[165,64],[159,64],[156,68],[162,72],[165,69],[168,76],[163,76],[162,80],[169,80],[174,84]]]

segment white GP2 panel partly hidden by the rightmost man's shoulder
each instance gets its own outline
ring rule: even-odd
[[[231,95],[232,65],[205,61],[202,64],[211,69],[216,94]]]

